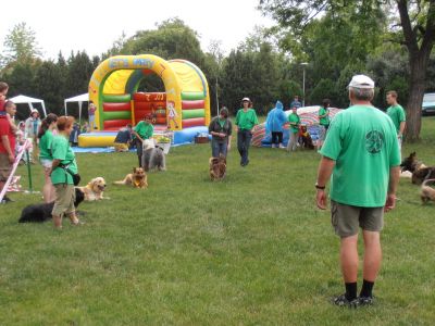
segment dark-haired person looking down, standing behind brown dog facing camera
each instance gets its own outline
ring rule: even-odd
[[[219,111],[219,115],[214,117],[209,125],[211,137],[211,155],[226,158],[227,151],[231,149],[231,139],[233,133],[233,124],[228,118],[228,109],[225,106]]]

